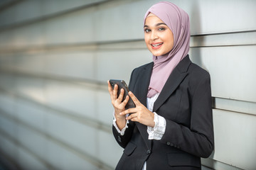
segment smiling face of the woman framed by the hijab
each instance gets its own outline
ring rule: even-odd
[[[144,25],[146,47],[155,55],[165,55],[174,47],[174,35],[160,18],[149,14]]]

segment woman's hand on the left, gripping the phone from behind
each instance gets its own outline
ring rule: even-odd
[[[121,92],[117,97],[117,91],[118,91],[117,84],[114,85],[114,89],[112,89],[112,86],[110,85],[110,81],[107,81],[107,84],[108,84],[108,91],[110,92],[110,96],[111,96],[111,103],[114,107],[114,117],[117,119],[117,122],[119,120],[122,120],[126,123],[125,115],[119,115],[119,113],[124,111],[124,108],[129,101],[129,96],[126,96],[125,100],[122,101],[124,97],[124,89],[121,89]]]

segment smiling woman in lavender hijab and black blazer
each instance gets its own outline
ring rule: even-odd
[[[201,169],[213,151],[210,76],[188,56],[188,14],[170,2],[151,6],[144,39],[153,62],[134,69],[124,110],[118,86],[108,89],[114,106],[113,134],[124,148],[116,169]]]

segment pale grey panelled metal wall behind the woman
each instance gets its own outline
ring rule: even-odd
[[[114,169],[108,79],[151,62],[155,0],[0,1],[0,169]],[[256,169],[256,1],[174,0],[211,76],[215,151],[203,169]],[[161,169],[161,168],[159,168]]]

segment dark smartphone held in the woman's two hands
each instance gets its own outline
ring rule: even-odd
[[[127,84],[125,83],[124,80],[110,79],[110,85],[112,86],[112,89],[114,89],[114,84],[117,84],[118,86],[117,97],[119,96],[121,89],[124,89],[124,98],[122,99],[122,101],[124,101],[124,99],[126,98],[129,92]],[[132,101],[132,98],[129,98],[129,101],[125,106],[125,109],[128,109],[128,108],[135,108],[135,104]]]

